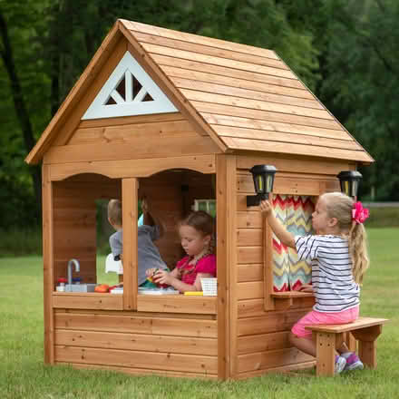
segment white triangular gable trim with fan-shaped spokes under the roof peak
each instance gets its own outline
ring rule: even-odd
[[[116,88],[125,78],[126,88],[131,89],[132,78],[141,84],[141,90],[132,98],[131,90],[126,90],[126,98],[122,98]],[[149,93],[153,101],[142,101]],[[108,104],[110,97],[116,104]],[[118,116],[147,115],[151,113],[178,112],[169,98],[161,91],[134,57],[126,52],[120,63],[111,73],[107,82],[84,113],[82,119],[112,118]]]

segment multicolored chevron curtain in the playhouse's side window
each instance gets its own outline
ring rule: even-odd
[[[277,219],[295,235],[312,230],[315,198],[298,195],[273,194],[272,203]],[[311,279],[310,262],[297,261],[297,253],[281,244],[273,235],[273,288],[276,292],[297,290]]]

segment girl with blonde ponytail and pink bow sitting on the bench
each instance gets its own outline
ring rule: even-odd
[[[311,260],[312,284],[302,291],[313,291],[316,305],[291,329],[290,342],[308,355],[316,356],[316,342],[305,327],[315,324],[342,324],[355,321],[359,315],[360,285],[368,268],[365,227],[368,209],[341,192],[319,197],[312,214],[315,235],[294,237],[276,219],[270,203],[260,209],[277,238],[297,250],[298,260]],[[363,368],[345,343],[336,354],[336,373]]]

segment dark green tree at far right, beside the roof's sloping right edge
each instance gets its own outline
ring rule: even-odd
[[[321,98],[375,158],[361,168],[361,193],[399,199],[399,4],[347,2],[335,15]]]

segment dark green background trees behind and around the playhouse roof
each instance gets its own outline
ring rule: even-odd
[[[0,0],[2,226],[39,221],[24,157],[117,18],[273,49],[375,158],[363,199],[399,199],[396,0]]]

